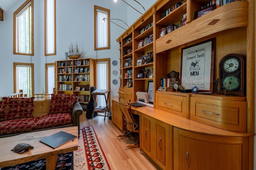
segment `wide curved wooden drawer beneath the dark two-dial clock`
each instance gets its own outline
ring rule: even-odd
[[[191,97],[190,119],[229,131],[246,132],[246,101]]]

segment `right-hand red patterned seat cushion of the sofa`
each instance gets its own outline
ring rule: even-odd
[[[72,117],[70,113],[56,113],[48,114],[41,117],[36,123],[36,129],[44,129],[48,127],[56,127],[61,125],[72,124]]]

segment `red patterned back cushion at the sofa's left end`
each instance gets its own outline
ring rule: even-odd
[[[2,98],[1,121],[32,117],[34,97],[32,98]]]

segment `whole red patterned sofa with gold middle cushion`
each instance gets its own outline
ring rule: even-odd
[[[83,113],[74,95],[52,94],[51,99],[2,98],[0,138],[46,129],[78,126]]]

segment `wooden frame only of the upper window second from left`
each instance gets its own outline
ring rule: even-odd
[[[56,55],[56,0],[54,1],[54,53],[47,53],[46,51],[46,46],[47,46],[47,1],[44,0],[44,55],[49,56],[49,55]]]

